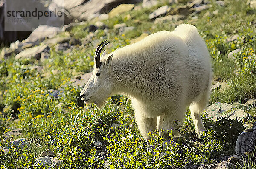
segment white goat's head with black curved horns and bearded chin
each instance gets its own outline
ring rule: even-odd
[[[107,40],[103,41],[97,47],[94,54],[93,75],[90,77],[83,90],[80,93],[84,103],[94,103],[98,108],[102,108],[105,101],[111,95],[113,84],[111,82],[111,61],[113,54],[103,52],[102,58],[100,54],[105,45],[108,45]],[[102,46],[102,47],[101,47]]]

